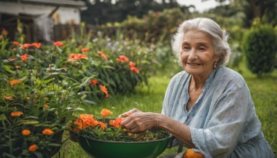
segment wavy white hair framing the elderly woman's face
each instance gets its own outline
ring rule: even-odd
[[[206,17],[189,19],[180,24],[171,42],[173,54],[179,60],[179,63],[181,63],[181,44],[184,40],[184,35],[189,30],[201,30],[207,33],[213,42],[215,55],[220,55],[220,60],[217,62],[218,66],[228,64],[231,55],[231,49],[228,43],[229,35],[215,21]]]

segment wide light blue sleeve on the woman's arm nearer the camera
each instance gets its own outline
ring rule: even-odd
[[[247,113],[251,111],[250,92],[243,78],[229,81],[213,103],[203,129],[190,127],[192,141],[205,157],[226,157],[238,143]],[[223,85],[217,85],[223,86]]]

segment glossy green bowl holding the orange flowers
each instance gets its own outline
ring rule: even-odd
[[[79,135],[79,144],[91,157],[158,157],[166,147],[170,137],[154,141],[121,142],[101,141]]]

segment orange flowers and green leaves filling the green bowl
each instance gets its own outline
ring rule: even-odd
[[[102,141],[120,142],[152,141],[169,137],[169,133],[162,129],[133,134],[120,128],[120,123],[125,118],[107,119],[107,116],[113,114],[109,109],[102,109],[100,114],[101,119],[95,119],[92,114],[80,114],[80,117],[71,124],[73,132]]]

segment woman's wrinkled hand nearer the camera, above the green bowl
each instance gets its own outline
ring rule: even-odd
[[[132,133],[142,132],[159,125],[159,115],[152,112],[134,112],[121,122],[121,128]]]

